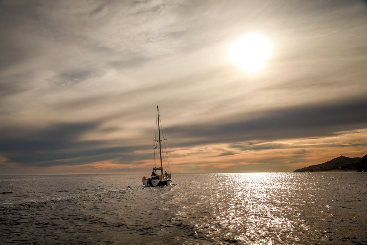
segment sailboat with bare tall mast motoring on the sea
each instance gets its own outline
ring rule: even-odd
[[[157,130],[157,124],[158,124],[158,130]],[[158,134],[158,138],[157,138],[157,134]],[[146,179],[145,176],[143,176],[142,182],[145,186],[153,187],[153,186],[169,185],[171,183],[170,164],[168,162],[168,157],[167,157],[167,144],[166,144],[167,138],[165,137],[165,135],[166,134],[164,133],[164,130],[163,130],[162,122],[160,120],[160,115],[159,115],[159,108],[157,105],[156,129],[155,129],[155,134],[153,138],[153,149],[154,149],[153,171],[152,171],[152,175],[148,179]],[[161,139],[161,136],[163,139]],[[159,151],[157,150],[157,146],[159,147]],[[157,156],[158,153],[159,153],[159,158]],[[163,158],[162,158],[162,154],[163,154]],[[167,171],[163,173],[163,162],[165,163],[164,165],[166,166],[167,170],[169,170],[169,173],[167,173]],[[159,166],[159,163],[160,163],[160,167],[157,167]],[[160,174],[156,172],[157,170],[160,170]]]

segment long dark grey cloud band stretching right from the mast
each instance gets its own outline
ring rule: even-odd
[[[333,101],[330,104],[303,105],[246,115],[237,122],[175,126],[166,129],[172,138],[192,138],[191,142],[174,145],[218,142],[275,140],[330,136],[336,131],[367,127],[367,99]],[[205,139],[205,140],[202,140]]]

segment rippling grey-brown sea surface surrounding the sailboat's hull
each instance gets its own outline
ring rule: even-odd
[[[0,176],[0,244],[367,244],[366,173]]]

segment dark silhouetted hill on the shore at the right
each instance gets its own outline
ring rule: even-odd
[[[367,155],[363,157],[346,157],[339,156],[333,160],[320,163],[317,165],[311,165],[308,167],[303,167],[301,169],[296,169],[293,172],[319,172],[327,170],[346,170],[357,172],[367,172]]]

